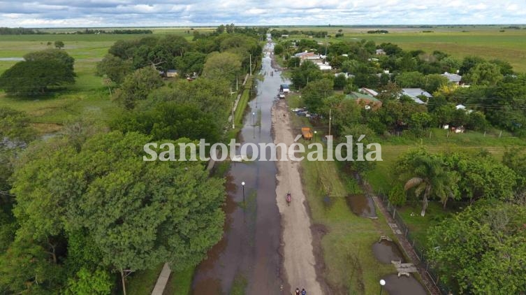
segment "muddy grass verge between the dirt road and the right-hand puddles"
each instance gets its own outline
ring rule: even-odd
[[[358,185],[335,162],[302,161],[302,169],[312,221],[328,231],[321,240],[326,282],[338,292],[376,294],[381,276],[395,271],[372,253],[380,236],[392,236],[383,216],[370,220],[351,213],[344,196],[359,192]]]

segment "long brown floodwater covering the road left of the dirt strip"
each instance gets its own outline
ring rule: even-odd
[[[272,50],[272,45],[265,50]],[[238,141],[242,144],[273,142],[271,108],[283,81],[280,72],[270,75],[272,71],[270,57],[264,57],[261,73],[266,73],[265,80],[257,82],[258,94],[244,116]],[[270,149],[266,153],[266,159],[270,159]],[[247,154],[251,154],[250,148]],[[246,294],[280,293],[286,283],[280,273],[281,218],[276,203],[276,173],[273,161],[232,162],[226,179],[224,235],[198,266],[193,294],[229,294],[233,282],[240,278],[247,280]],[[245,182],[244,189],[241,182]]]

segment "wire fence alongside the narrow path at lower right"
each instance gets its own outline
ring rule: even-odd
[[[379,192],[377,196],[379,196],[379,199],[382,201],[383,206],[387,209],[388,213],[390,213],[391,217],[393,217],[393,220],[395,220],[395,222],[397,223],[397,226],[400,229],[400,231],[402,231],[402,234],[404,234],[405,238],[407,238],[409,243],[413,246],[413,250],[416,256],[418,257],[418,259],[420,259],[420,261],[414,261],[415,264],[420,264],[422,268],[425,269],[425,272],[428,273],[429,277],[434,282],[434,285],[437,285],[441,294],[453,294],[451,289],[444,285],[444,282],[440,280],[440,276],[437,273],[437,271],[434,270],[434,268],[432,268],[430,261],[428,261],[425,255],[425,248],[422,247],[415,240],[414,236],[409,230],[409,227],[405,224],[404,220],[402,220],[402,217],[397,213],[396,207],[392,206],[388,201],[388,197],[384,194],[381,194],[381,192]]]

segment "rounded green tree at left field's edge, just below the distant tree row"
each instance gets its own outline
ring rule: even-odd
[[[138,101],[145,100],[152,90],[163,85],[159,73],[150,66],[129,74],[115,92],[115,101],[124,108],[135,108]]]

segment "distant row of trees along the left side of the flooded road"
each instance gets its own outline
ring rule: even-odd
[[[159,71],[177,69],[182,76],[200,74],[205,69],[205,62],[211,59],[205,74],[224,74],[223,78],[232,80],[242,72],[241,69],[248,69],[250,59],[258,60],[262,52],[257,38],[244,34],[210,35],[194,43],[181,36],[149,36],[117,41],[98,64],[97,70],[99,74],[121,83],[127,74],[145,66]],[[218,67],[222,70],[217,71]]]

